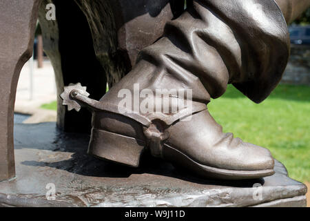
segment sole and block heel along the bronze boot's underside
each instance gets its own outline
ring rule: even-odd
[[[126,166],[138,167],[145,148],[146,142],[143,140],[108,131],[92,129],[88,153],[103,160],[117,162]],[[167,144],[163,145],[163,158],[206,178],[249,180],[267,177],[275,173],[273,169],[262,171],[234,171],[205,166]]]

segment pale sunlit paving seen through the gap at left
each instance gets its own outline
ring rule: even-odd
[[[54,70],[50,61],[44,61],[43,68],[37,68],[34,61],[33,77],[30,77],[30,61],[28,61],[19,77],[15,112],[30,114],[25,123],[51,122],[56,120],[56,111],[40,108],[42,104],[56,100],[56,84]]]

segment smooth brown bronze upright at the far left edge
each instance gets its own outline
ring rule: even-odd
[[[0,3],[0,181],[15,175],[13,118],[19,73],[32,54],[39,0]]]

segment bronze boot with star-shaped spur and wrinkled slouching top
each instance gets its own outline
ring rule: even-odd
[[[271,153],[223,133],[207,104],[227,84],[254,102],[265,99],[285,70],[288,36],[272,0],[193,1],[99,102],[72,85],[64,104],[92,110],[89,153],[105,160],[138,166],[146,150],[203,177],[272,175]]]

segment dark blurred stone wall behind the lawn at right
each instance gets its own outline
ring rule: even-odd
[[[291,57],[281,83],[310,86],[310,46],[291,45]]]

